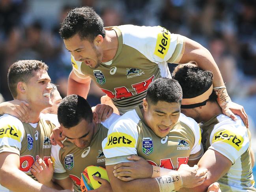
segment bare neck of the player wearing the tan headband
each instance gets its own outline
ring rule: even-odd
[[[222,114],[221,108],[216,102],[207,102],[202,111],[202,121],[209,121],[212,117]]]

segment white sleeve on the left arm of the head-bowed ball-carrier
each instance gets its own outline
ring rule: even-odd
[[[66,170],[60,161],[60,156],[59,156],[60,149],[61,149],[60,145],[52,145],[52,148],[51,148],[51,159],[54,167],[54,173],[53,173],[54,179],[65,179],[69,177],[69,175],[66,173]]]

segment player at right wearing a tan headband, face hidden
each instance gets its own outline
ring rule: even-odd
[[[239,116],[237,121],[232,121],[222,114],[213,90],[213,74],[185,65],[176,72],[174,79],[183,90],[181,112],[200,123],[206,151],[198,166],[208,169],[207,179],[194,191],[203,191],[215,181],[219,182],[222,192],[256,191],[250,157],[250,131]]]

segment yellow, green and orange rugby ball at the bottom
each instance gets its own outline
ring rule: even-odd
[[[107,171],[100,166],[88,166],[81,174],[81,190],[89,191],[97,189],[101,186],[101,183],[93,179],[93,175],[106,179],[109,182]]]

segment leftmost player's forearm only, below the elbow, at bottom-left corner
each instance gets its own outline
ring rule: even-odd
[[[9,168],[8,170],[1,170],[0,181],[1,185],[11,191],[17,192],[55,192],[56,190],[49,188],[41,183],[38,183],[22,171]],[[22,187],[21,187],[22,186]]]

